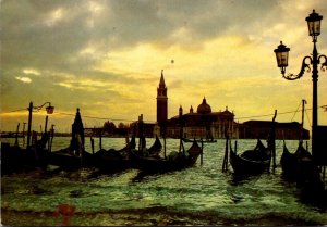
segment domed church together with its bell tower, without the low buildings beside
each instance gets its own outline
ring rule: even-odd
[[[159,87],[157,88],[157,124],[154,126],[153,135],[164,136],[165,133],[166,137],[179,137],[180,116],[183,118],[183,137],[185,138],[225,138],[226,131],[232,138],[238,137],[234,114],[227,109],[223,112],[211,112],[211,106],[205,98],[197,106],[196,113],[194,113],[191,105],[190,113],[183,114],[183,109],[180,106],[179,115],[168,119],[168,96],[162,70]]]

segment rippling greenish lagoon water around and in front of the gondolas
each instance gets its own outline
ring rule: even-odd
[[[52,150],[68,147],[69,141],[68,137],[55,138]],[[147,139],[147,147],[153,142]],[[295,151],[298,141],[286,143]],[[122,138],[102,138],[107,150],[124,144]],[[256,140],[238,140],[238,151],[255,144]],[[246,178],[235,177],[231,167],[221,172],[225,140],[204,143],[202,165],[198,159],[194,167],[166,174],[142,175],[137,169],[98,174],[95,168],[64,172],[49,166],[46,172],[3,175],[1,224],[63,225],[63,217],[53,212],[59,204],[70,204],[76,207],[68,220],[74,226],[326,225],[326,210],[304,203],[295,184],[281,177],[282,141],[276,141],[276,146],[275,173]],[[89,138],[85,147],[90,151]],[[178,149],[179,140],[167,140],[167,153]]]

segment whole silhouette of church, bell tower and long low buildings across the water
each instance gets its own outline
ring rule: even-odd
[[[213,112],[211,106],[203,98],[196,112],[191,105],[189,113],[183,113],[182,105],[179,106],[178,115],[168,119],[168,96],[164,78],[164,70],[159,86],[157,87],[157,122],[144,123],[143,135],[145,137],[167,137],[187,139],[222,139],[226,134],[233,139],[267,139],[271,133],[270,121],[234,122],[234,113],[228,110]],[[276,123],[276,139],[308,139],[308,130],[302,128],[300,123]],[[130,125],[130,134],[138,135],[137,122]]]

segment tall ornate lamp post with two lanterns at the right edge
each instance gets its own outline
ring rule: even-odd
[[[320,68],[325,71],[324,67],[327,67],[327,56],[323,54],[318,54],[316,42],[317,38],[320,35],[320,21],[323,20],[323,16],[320,16],[318,13],[313,10],[313,12],[305,18],[307,22],[307,28],[308,28],[308,35],[312,36],[314,48],[312,56],[307,55],[304,56],[302,61],[302,67],[298,75],[294,74],[288,74],[286,75],[286,67],[288,66],[288,56],[290,48],[287,48],[281,41],[280,45],[275,49],[276,53],[276,60],[277,65],[281,70],[282,77],[288,80],[295,80],[300,79],[305,68],[307,68],[307,72],[312,71],[312,81],[313,81],[313,101],[312,101],[312,153],[316,151],[316,128],[318,125],[318,97],[317,97],[317,81],[318,81],[318,64],[320,64]],[[324,62],[322,63],[322,60]],[[312,70],[310,67],[312,65]]]

